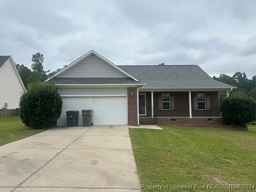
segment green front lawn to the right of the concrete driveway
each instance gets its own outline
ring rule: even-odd
[[[214,176],[229,184],[256,188],[256,125],[248,126],[249,132],[161,127],[164,130],[129,129],[141,184],[169,185],[169,190],[162,191],[180,191],[170,185],[192,185],[192,190],[183,191],[216,191],[194,188],[194,184],[206,188],[207,184],[218,184],[210,179]]]

